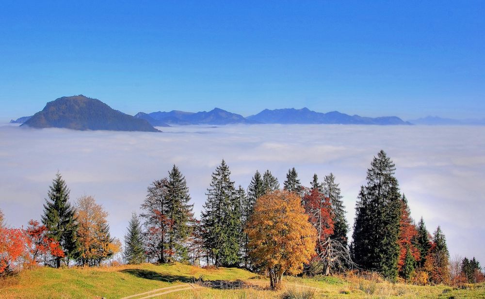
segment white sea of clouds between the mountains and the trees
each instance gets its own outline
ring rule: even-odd
[[[247,188],[266,169],[281,186],[289,168],[309,186],[313,173],[332,172],[352,225],[359,187],[372,157],[384,149],[411,215],[428,230],[441,225],[451,255],[485,263],[485,127],[236,125],[174,126],[163,133],[73,131],[0,126],[0,209],[11,226],[40,220],[59,170],[71,201],[93,195],[123,239],[146,188],[175,163],[187,179],[199,216],[211,173],[225,159],[236,185]]]

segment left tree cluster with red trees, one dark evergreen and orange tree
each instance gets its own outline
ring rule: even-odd
[[[0,276],[15,268],[37,265],[99,266],[121,251],[110,236],[108,213],[92,196],[81,196],[72,206],[60,173],[49,187],[41,222],[30,220],[26,229],[8,228],[0,211]]]

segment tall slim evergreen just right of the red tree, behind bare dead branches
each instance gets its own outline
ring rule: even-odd
[[[332,220],[334,222],[334,232],[330,236],[331,239],[339,241],[344,247],[347,247],[347,233],[349,232],[349,224],[345,218],[345,206],[343,205],[340,195],[339,184],[335,183],[335,176],[333,173],[325,175],[323,180],[323,194],[330,199],[332,208]]]

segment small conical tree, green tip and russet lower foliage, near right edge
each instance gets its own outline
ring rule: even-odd
[[[431,249],[424,263],[424,268],[429,274],[431,283],[438,284],[449,281],[449,257],[450,254],[446,245],[445,235],[441,231],[441,227],[438,226],[433,234]]]

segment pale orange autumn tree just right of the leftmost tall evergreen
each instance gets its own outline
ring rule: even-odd
[[[81,266],[99,266],[103,260],[118,253],[119,242],[110,236],[108,213],[96,204],[94,197],[81,196],[76,201],[78,263]]]

